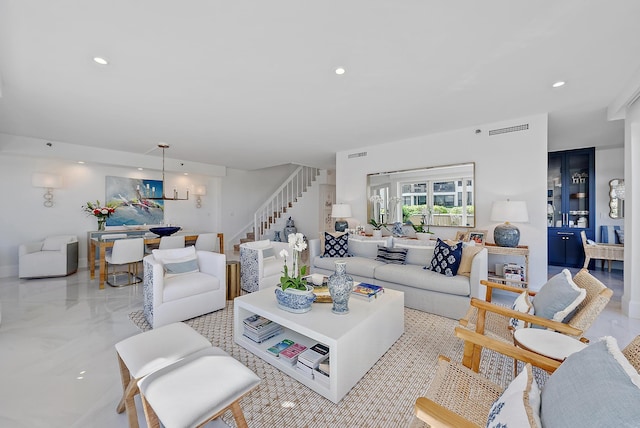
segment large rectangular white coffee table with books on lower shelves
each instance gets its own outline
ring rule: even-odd
[[[236,297],[234,340],[298,382],[338,403],[404,332],[404,293],[386,289],[371,302],[349,299],[346,315],[332,313],[331,306],[331,303],[314,303],[304,314],[286,312],[278,308],[274,288]],[[282,325],[284,333],[263,343],[245,337],[243,320],[253,314]],[[329,347],[329,387],[266,351],[283,339],[307,347],[318,342]]]

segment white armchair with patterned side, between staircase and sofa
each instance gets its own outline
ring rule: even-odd
[[[265,239],[240,244],[240,288],[252,293],[279,284],[284,270],[282,250],[292,255],[288,242]],[[287,259],[287,266],[293,269],[292,257]]]

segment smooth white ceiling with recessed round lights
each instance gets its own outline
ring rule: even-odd
[[[620,146],[606,107],[640,70],[639,21],[636,0],[0,0],[0,132],[331,167],[549,112],[551,148]]]

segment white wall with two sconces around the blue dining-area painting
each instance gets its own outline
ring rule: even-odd
[[[31,185],[34,172],[61,175],[64,185],[53,190],[55,205],[43,206],[45,189]],[[80,266],[86,266],[86,232],[95,230],[94,217],[81,209],[87,201],[105,199],[105,177],[161,179],[159,171],[138,171],[132,167],[63,161],[52,158],[0,154],[0,276],[17,276],[18,246],[41,240],[47,235],[73,234],[80,240]],[[202,208],[196,208],[194,196],[188,201],[165,201],[165,223],[193,231],[224,232],[220,222],[221,178],[200,174],[189,176],[166,174],[167,188],[178,189],[205,185]],[[184,193],[183,193],[184,195]]]

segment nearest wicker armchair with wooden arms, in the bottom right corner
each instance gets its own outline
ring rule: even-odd
[[[558,361],[519,348],[505,347],[506,345],[500,341],[461,327],[456,327],[456,335],[481,348],[502,352],[532,365],[549,365],[552,369],[560,365]],[[622,353],[638,370],[640,368],[640,336],[627,345]],[[501,386],[489,381],[482,374],[441,356],[435,378],[429,385],[429,389],[424,397],[416,400],[414,407],[416,418],[411,428],[484,427],[487,424],[491,406],[502,392]]]

